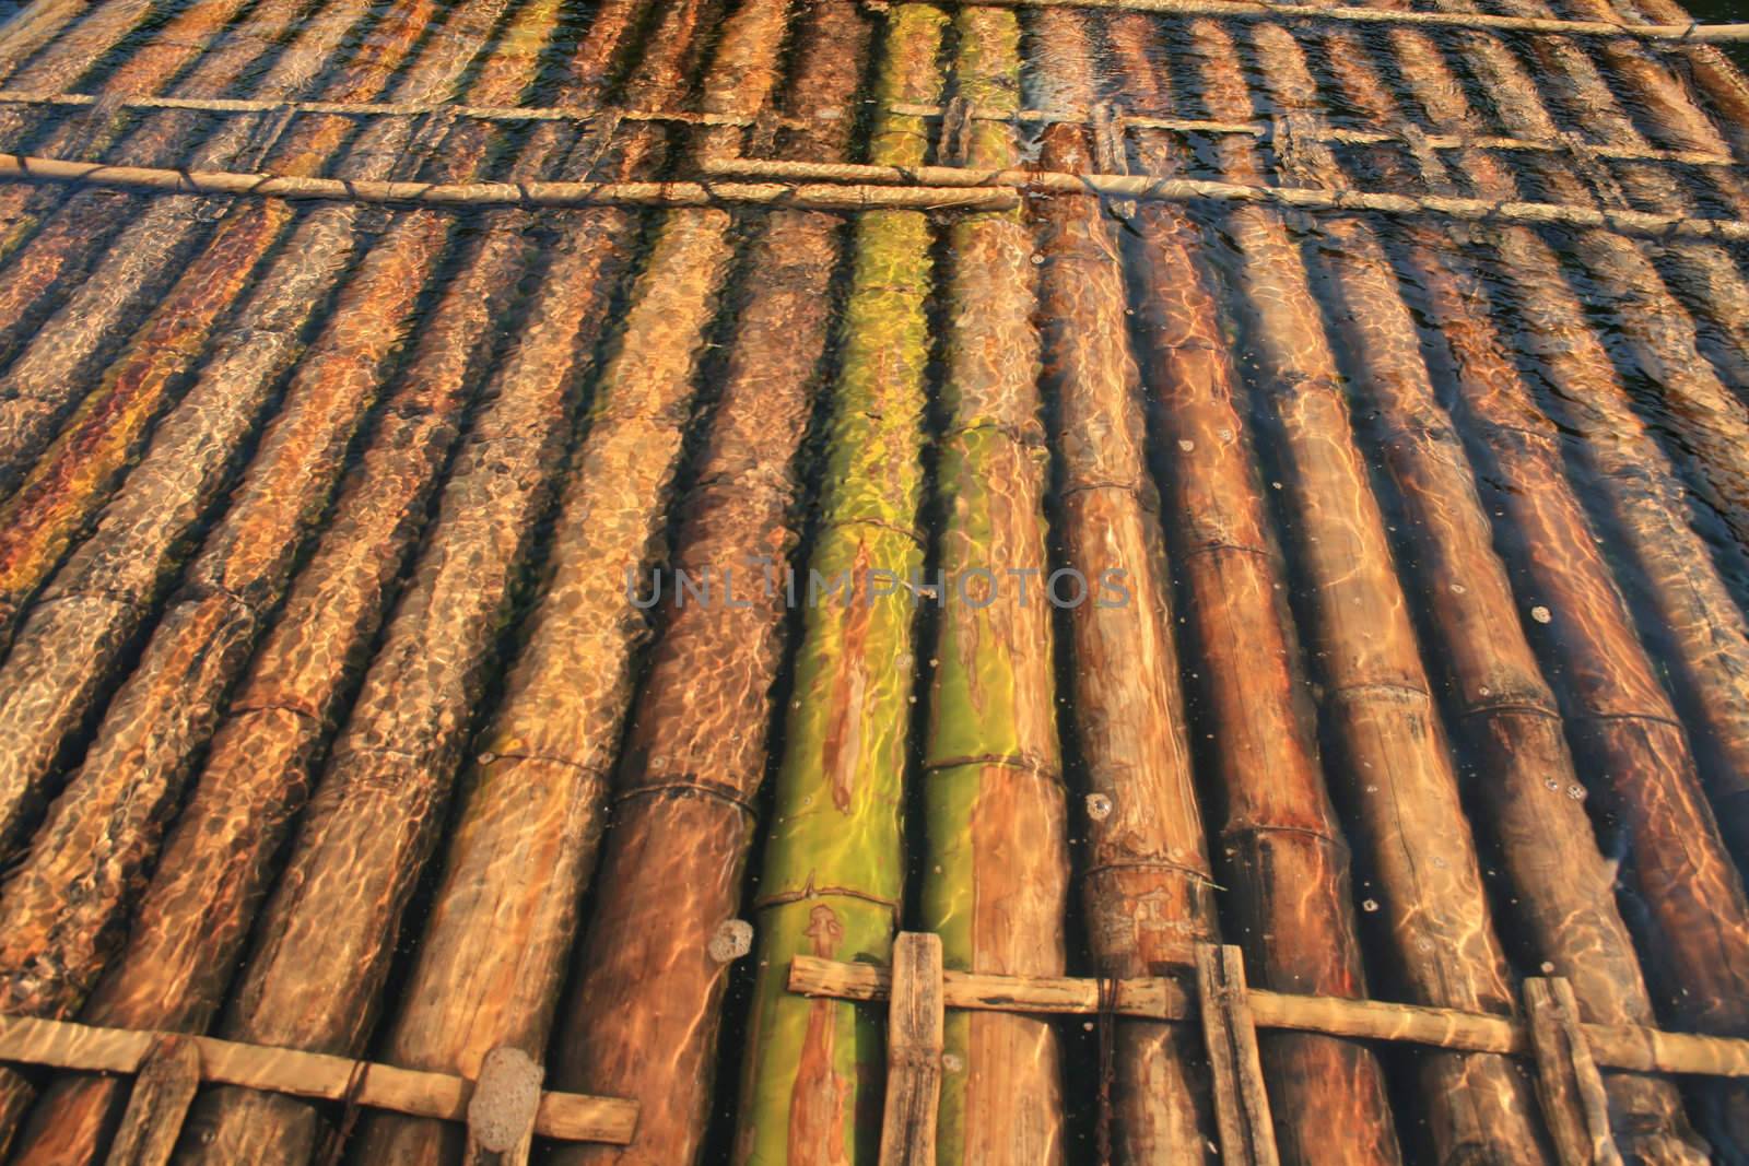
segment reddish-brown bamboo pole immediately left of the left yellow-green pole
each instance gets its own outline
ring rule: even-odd
[[[782,143],[784,156],[850,149],[869,24],[854,0],[813,9],[785,100],[806,129]],[[735,299],[722,397],[673,556],[677,572],[715,577],[733,594],[665,608],[623,753],[581,979],[554,1045],[554,1080],[640,1101],[638,1140],[624,1152],[577,1147],[561,1161],[656,1166],[700,1154],[728,968],[745,951],[731,920],[784,650],[777,580],[798,540],[792,463],[820,392],[843,234],[838,217],[775,213]],[[665,925],[652,928],[652,918]]]

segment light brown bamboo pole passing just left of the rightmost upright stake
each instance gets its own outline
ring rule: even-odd
[[[1188,63],[1209,112],[1249,115],[1226,30],[1193,21],[1188,31]],[[1230,180],[1263,184],[1249,142],[1217,142],[1216,157]],[[1455,767],[1303,257],[1277,215],[1238,208],[1224,229],[1238,250],[1261,397],[1294,512],[1310,640],[1324,661],[1326,715],[1343,748],[1338,773],[1371,851],[1403,988],[1422,1003],[1509,1014],[1506,958]],[[1420,1059],[1420,1080],[1438,1161],[1543,1159],[1518,1066],[1488,1056],[1429,1056]]]

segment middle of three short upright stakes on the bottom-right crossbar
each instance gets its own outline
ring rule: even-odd
[[[1258,1058],[1258,1028],[1245,991],[1245,960],[1238,947],[1196,946],[1196,998],[1214,1077],[1221,1161],[1277,1166],[1280,1156],[1263,1086],[1263,1061]]]

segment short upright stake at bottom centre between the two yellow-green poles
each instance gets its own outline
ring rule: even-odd
[[[880,1166],[934,1166],[946,1040],[941,937],[904,932],[892,946],[887,1010],[887,1112]]]

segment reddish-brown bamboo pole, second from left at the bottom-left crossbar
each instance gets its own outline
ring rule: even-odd
[[[560,82],[572,100],[600,100],[638,9],[635,0],[623,0],[596,14]],[[530,9],[530,17],[537,10]],[[474,91],[514,94],[519,86],[511,73],[521,68],[516,56],[495,52]],[[635,140],[649,145],[652,136]],[[486,128],[458,126],[432,164],[465,171],[490,142]],[[560,129],[537,133],[514,166],[539,173],[568,142]],[[437,253],[427,250],[432,215],[402,215],[376,250],[423,252],[436,269]],[[628,234],[623,213],[605,217],[619,236]],[[514,306],[518,280],[533,259],[533,245],[523,238],[526,227],[521,212],[490,213],[427,313],[376,437],[233,694],[203,776],[135,907],[138,921],[128,944],[84,1010],[87,1019],[199,1031],[217,1010],[255,906],[276,872],[275,851],[303,804],[311,767],[322,760],[325,725],[338,718],[357,682],[394,598],[395,572],[418,538],[420,523],[406,516],[423,514],[437,488],[472,386],[484,381],[495,329]],[[614,234],[596,239],[595,250],[614,262],[624,259]],[[596,283],[612,287],[614,280],[602,274]],[[549,327],[558,334],[558,325]],[[343,666],[336,668],[336,661]],[[17,1161],[93,1161],[119,1093],[110,1080],[65,1079],[52,1086]]]

